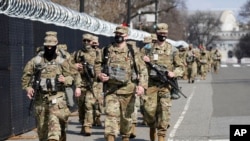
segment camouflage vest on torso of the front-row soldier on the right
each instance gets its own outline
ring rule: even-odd
[[[158,46],[157,43],[155,43],[151,48],[149,57],[159,71],[173,71],[173,60],[176,51],[177,49],[167,42],[165,42],[164,46]],[[152,69],[149,69],[149,78],[159,80],[157,73]]]

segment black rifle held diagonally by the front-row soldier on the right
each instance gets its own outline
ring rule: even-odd
[[[177,91],[178,93],[180,93],[183,97],[187,98],[187,96],[179,89],[178,83],[177,83],[176,79],[174,79],[174,78],[168,78],[166,76],[166,74],[168,74],[168,71],[165,71],[165,72],[159,71],[156,68],[156,65],[154,65],[154,64],[152,64],[150,62],[146,62],[146,64],[157,73],[157,75],[159,76],[161,82],[169,84],[171,87],[173,87],[173,89],[175,91]]]

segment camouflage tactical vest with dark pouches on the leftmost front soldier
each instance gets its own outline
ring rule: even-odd
[[[64,86],[57,80],[58,76],[62,74],[62,63],[65,61],[61,56],[57,56],[50,62],[47,62],[40,52],[34,58],[34,70],[40,70],[40,90],[43,93],[56,93],[57,91],[64,91]]]

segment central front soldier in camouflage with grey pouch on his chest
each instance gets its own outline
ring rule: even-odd
[[[105,139],[114,141],[120,131],[122,140],[128,141],[131,135],[135,93],[144,93],[148,74],[140,54],[136,51],[133,53],[132,47],[126,43],[128,27],[117,26],[114,33],[115,43],[103,49],[104,57],[96,63],[95,71],[98,79],[104,83]]]

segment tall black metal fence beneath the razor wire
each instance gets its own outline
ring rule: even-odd
[[[28,115],[29,100],[21,88],[23,67],[35,55],[48,30],[57,31],[59,43],[67,44],[68,51],[81,47],[85,32],[37,21],[12,18],[0,14],[0,140],[27,132],[35,127]],[[102,46],[112,38],[99,36]]]

